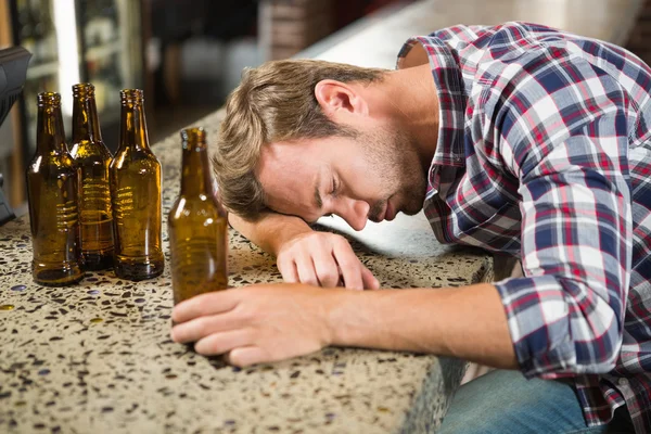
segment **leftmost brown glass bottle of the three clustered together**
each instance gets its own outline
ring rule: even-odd
[[[63,286],[84,278],[77,199],[80,169],[65,143],[61,95],[38,94],[36,153],[27,167],[27,194],[36,283]]]

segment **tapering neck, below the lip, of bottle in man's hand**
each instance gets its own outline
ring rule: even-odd
[[[213,196],[210,164],[205,144],[183,143],[181,195]]]

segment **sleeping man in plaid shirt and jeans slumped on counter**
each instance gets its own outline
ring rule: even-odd
[[[301,283],[180,304],[173,337],[238,366],[340,345],[506,369],[461,387],[443,432],[651,432],[650,88],[631,53],[524,23],[412,38],[395,72],[248,71],[221,126],[221,195]],[[378,281],[307,222],[423,207],[441,242],[518,255],[524,277],[318,288]]]

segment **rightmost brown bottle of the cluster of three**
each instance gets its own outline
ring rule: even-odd
[[[140,89],[120,91],[119,148],[111,162],[115,275],[129,280],[163,272],[161,163],[149,146]]]

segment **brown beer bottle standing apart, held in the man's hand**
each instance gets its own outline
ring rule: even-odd
[[[174,303],[228,286],[228,224],[213,190],[203,128],[181,131],[181,192],[168,219]]]

